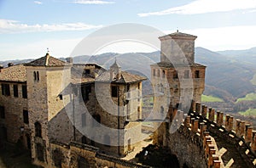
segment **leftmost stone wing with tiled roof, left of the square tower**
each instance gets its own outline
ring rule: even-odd
[[[20,142],[30,148],[26,67],[9,64],[0,69],[0,144]]]

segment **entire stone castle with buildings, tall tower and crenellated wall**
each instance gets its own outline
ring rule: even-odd
[[[253,127],[233,126],[232,116],[200,103],[206,66],[195,63],[195,39],[160,36],[160,63],[151,65],[153,143],[171,148],[181,167],[253,167]],[[9,64],[0,70],[0,144],[20,141],[44,167],[147,167],[119,159],[143,138],[145,80],[116,60],[109,70],[49,53]]]

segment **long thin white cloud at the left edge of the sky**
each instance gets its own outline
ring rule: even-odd
[[[3,33],[23,33],[39,31],[83,31],[100,28],[102,25],[87,25],[84,23],[67,23],[55,25],[27,25],[16,20],[0,20],[0,34]]]

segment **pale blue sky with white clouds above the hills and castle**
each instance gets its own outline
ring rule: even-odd
[[[0,60],[75,56],[79,42],[110,25],[143,24],[198,38],[212,51],[256,47],[256,0],[0,0]],[[134,42],[103,52],[151,52]],[[125,48],[122,48],[125,46]]]

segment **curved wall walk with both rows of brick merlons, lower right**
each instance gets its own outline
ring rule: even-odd
[[[188,115],[183,115],[181,110],[173,109],[172,115],[167,118],[172,122],[171,131],[178,128],[177,132],[202,148],[208,167],[224,167],[221,152],[226,149],[220,148],[220,151],[219,143],[231,145],[231,149],[236,150],[231,153],[237,156],[234,157],[235,161],[232,158],[237,165],[256,165],[256,131],[253,131],[253,126],[249,122],[224,115],[223,112],[194,101]],[[212,137],[217,138],[218,142],[215,143]],[[232,160],[226,165],[232,165]]]

